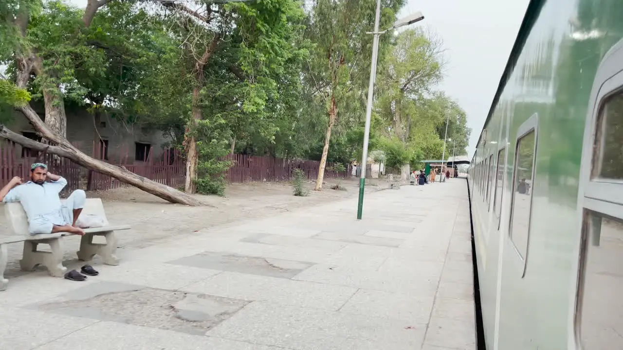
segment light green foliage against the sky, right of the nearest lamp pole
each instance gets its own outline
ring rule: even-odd
[[[397,159],[407,159],[403,164],[412,166],[424,158],[440,159],[448,123],[447,138],[453,140],[449,144],[456,145],[457,155],[466,153],[471,130],[465,112],[444,93],[432,90],[442,79],[442,53],[442,42],[432,32],[412,29],[397,35],[379,69],[375,104],[379,117],[373,123],[376,133],[392,141],[373,149],[389,147],[388,157],[399,155]],[[404,151],[404,156],[398,151]],[[450,155],[446,152],[446,158]]]

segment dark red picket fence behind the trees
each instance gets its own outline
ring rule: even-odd
[[[180,187],[184,184],[186,163],[176,149],[164,149],[159,157],[154,157],[150,149],[145,155],[144,161],[131,161],[128,160],[127,149],[118,153],[121,154],[118,159],[102,159],[108,158],[105,147],[105,144],[100,142],[93,143],[93,158],[126,168],[132,173],[167,186]],[[20,149],[21,154],[19,153]],[[223,173],[225,181],[229,184],[290,181],[294,169],[301,169],[308,180],[315,180],[318,177],[320,166],[318,161],[249,156],[246,154],[231,154],[224,159],[233,161],[231,168]],[[128,186],[113,177],[82,168],[69,159],[59,158],[53,154],[31,152],[29,149],[22,149],[21,146],[10,141],[0,140],[0,187],[9,182],[13,176],[28,179],[31,164],[37,162],[48,164],[50,173],[59,174],[67,179],[68,184],[62,192],[63,196],[80,188],[81,179],[86,182],[86,188],[89,191],[107,191]],[[331,166],[333,164],[326,164],[325,179],[350,177],[350,166],[341,172],[331,170]]]

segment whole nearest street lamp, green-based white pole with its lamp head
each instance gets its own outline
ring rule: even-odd
[[[379,21],[381,19],[381,0],[376,1],[376,15],[374,17],[374,32],[368,32],[367,34],[373,34],[372,40],[372,62],[370,65],[370,82],[368,85],[368,103],[366,104],[366,127],[363,133],[363,153],[361,154],[361,177],[359,178],[359,202],[357,204],[357,219],[361,220],[361,212],[363,211],[363,192],[366,186],[366,168],[368,166],[368,142],[370,139],[370,118],[372,116],[372,102],[374,98],[374,80],[376,79],[376,60],[379,53],[379,35],[384,34],[387,31],[398,29],[399,27],[409,26],[415,22],[422,21],[424,16],[422,12],[415,12],[407,17],[399,19],[394,22],[394,26],[379,32]]]

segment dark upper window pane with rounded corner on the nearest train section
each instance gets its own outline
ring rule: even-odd
[[[594,175],[623,179],[623,92],[607,98],[597,116]]]

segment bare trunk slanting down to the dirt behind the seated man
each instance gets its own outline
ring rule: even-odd
[[[29,120],[31,120],[33,115],[35,118],[39,119],[37,113],[32,110],[30,106],[26,106],[23,109],[24,114],[29,115]],[[52,154],[56,154],[57,156],[71,159],[72,161],[74,161],[74,163],[80,164],[87,169],[92,169],[98,171],[99,173],[112,176],[121,182],[125,182],[126,184],[138,187],[139,189],[158,196],[166,201],[186,204],[187,206],[202,205],[201,202],[197,201],[193,197],[188,196],[187,194],[184,194],[183,192],[180,192],[172,187],[159,184],[155,181],[151,181],[150,179],[146,179],[143,176],[138,176],[135,173],[128,171],[128,169],[126,168],[120,168],[118,166],[104,163],[103,161],[98,161],[97,159],[93,159],[92,157],[87,156],[86,154],[82,153],[74,146],[72,146],[69,141],[62,140],[58,138],[57,135],[50,134],[49,128],[47,128],[47,126],[40,120],[39,123],[33,123],[33,125],[35,126],[37,131],[44,135],[45,138],[58,143],[59,146],[51,146],[49,144],[43,144],[37,141],[33,141],[22,135],[14,133],[11,130],[8,130],[4,127],[4,125],[0,125],[0,137],[14,141],[24,147],[34,149],[36,151],[49,152]]]

